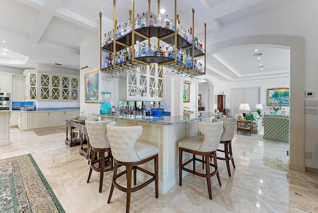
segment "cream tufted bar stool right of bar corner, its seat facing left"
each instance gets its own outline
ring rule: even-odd
[[[219,185],[221,186],[216,151],[223,132],[223,122],[219,119],[214,119],[212,122],[198,122],[198,129],[203,136],[191,136],[179,141],[179,185],[182,186],[182,170],[204,177],[207,179],[209,198],[212,199],[211,177],[217,175]],[[183,152],[188,152],[193,157],[183,163]],[[203,160],[196,158],[196,155],[201,155]],[[213,163],[210,162],[210,156],[213,156]],[[196,161],[205,164],[205,174],[195,171]],[[185,167],[191,162],[193,162],[192,170]],[[210,166],[214,168],[213,172],[210,172]]]

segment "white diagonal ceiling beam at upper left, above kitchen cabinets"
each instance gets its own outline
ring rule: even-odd
[[[32,30],[29,35],[29,41],[37,44],[42,37],[45,29],[50,24],[50,21],[56,12],[57,8],[60,6],[62,0],[47,0],[46,4],[42,8],[39,15],[33,22]]]

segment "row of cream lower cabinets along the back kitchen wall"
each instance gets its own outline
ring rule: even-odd
[[[17,125],[22,131],[64,126],[66,119],[79,115],[79,110],[18,111]]]

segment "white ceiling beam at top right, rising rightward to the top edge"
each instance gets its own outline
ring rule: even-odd
[[[225,0],[212,8],[211,18],[220,18],[261,1],[263,0]]]

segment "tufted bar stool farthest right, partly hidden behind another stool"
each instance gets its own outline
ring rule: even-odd
[[[223,120],[223,133],[220,143],[224,144],[224,150],[218,149],[217,151],[223,152],[225,157],[217,157],[219,160],[225,160],[227,163],[228,174],[231,177],[230,160],[235,168],[233,152],[232,152],[232,139],[235,134],[235,126],[237,125],[237,118],[234,116],[220,117]]]

